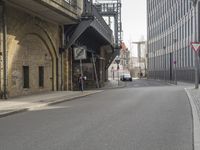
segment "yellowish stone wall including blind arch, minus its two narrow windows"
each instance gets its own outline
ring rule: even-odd
[[[6,18],[9,96],[57,90],[59,26],[11,6],[6,6]],[[23,88],[23,66],[29,66],[29,88]],[[39,66],[44,67],[44,87],[39,87]]]

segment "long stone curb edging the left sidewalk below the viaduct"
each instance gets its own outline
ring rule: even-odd
[[[55,100],[55,101],[52,101],[52,102],[47,102],[47,103],[44,103],[44,104],[38,104],[36,106],[27,106],[25,108],[16,109],[16,110],[12,110],[12,111],[7,111],[7,112],[4,112],[4,113],[0,113],[0,118],[7,117],[7,116],[13,115],[13,114],[27,112],[27,111],[30,111],[30,110],[34,110],[36,108],[41,108],[41,107],[45,107],[45,106],[56,105],[56,104],[59,104],[59,103],[62,103],[62,102],[75,100],[75,99],[86,97],[86,96],[89,96],[89,95],[94,95],[94,94],[97,94],[97,93],[100,93],[100,92],[103,92],[103,90],[96,91],[96,92],[93,92],[93,93],[86,93],[86,94],[79,95],[79,96],[72,96],[72,97],[69,97],[69,98],[60,98],[58,100]]]

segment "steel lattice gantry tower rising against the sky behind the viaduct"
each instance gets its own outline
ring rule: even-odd
[[[94,5],[102,17],[108,18],[111,27],[111,18],[114,18],[115,49],[119,51],[122,41],[121,0],[95,0]]]

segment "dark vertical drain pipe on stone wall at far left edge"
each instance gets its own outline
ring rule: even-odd
[[[3,30],[3,98],[7,99],[7,25],[5,2],[2,2],[2,30]]]

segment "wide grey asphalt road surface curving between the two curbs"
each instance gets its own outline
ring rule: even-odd
[[[192,150],[192,115],[184,90],[134,82],[1,118],[0,150]]]

